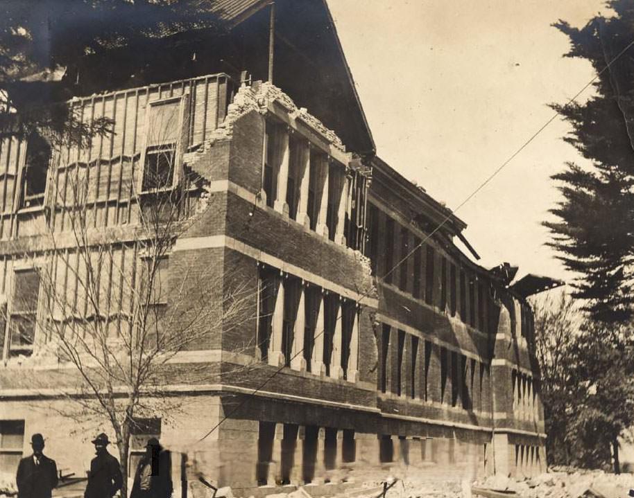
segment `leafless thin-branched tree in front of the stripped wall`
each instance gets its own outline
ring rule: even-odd
[[[153,127],[161,133],[170,126]],[[132,177],[135,208],[125,227],[104,229],[97,220],[99,161],[52,166],[46,249],[24,255],[31,271],[17,281],[8,317],[12,335],[37,337],[40,351],[74,366],[73,384],[60,390],[71,403],[60,413],[112,427],[124,497],[130,436],[139,418],[173,413],[180,403],[162,388],[175,357],[208,349],[221,332],[239,337],[240,326],[255,319],[257,285],[233,279],[230,269],[188,259],[167,272],[178,239],[210,207],[205,181],[183,168],[177,145],[157,141],[164,144],[148,149],[143,168],[137,165],[142,177]],[[76,149],[80,157],[81,144]],[[33,307],[34,294],[40,308]],[[233,352],[241,350],[253,364],[235,368],[255,366],[255,338]],[[188,382],[201,382],[219,374],[191,366],[187,375]]]

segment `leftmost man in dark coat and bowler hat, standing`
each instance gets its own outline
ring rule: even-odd
[[[53,488],[58,485],[58,468],[55,461],[42,454],[42,434],[31,436],[33,454],[20,460],[17,466],[18,498],[51,498]]]

